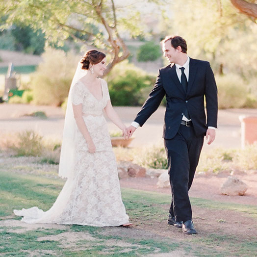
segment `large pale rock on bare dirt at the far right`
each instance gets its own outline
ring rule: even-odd
[[[237,179],[236,177],[229,176],[228,179],[220,187],[220,192],[223,195],[244,195],[247,190],[247,185]]]

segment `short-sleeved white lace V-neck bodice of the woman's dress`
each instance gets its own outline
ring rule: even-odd
[[[107,83],[100,78],[103,98],[97,100],[83,82],[78,81],[71,92],[72,103],[77,105],[82,103],[83,114],[102,115],[103,108],[106,106],[108,100],[110,100]]]

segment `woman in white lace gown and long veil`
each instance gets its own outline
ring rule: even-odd
[[[80,68],[81,66],[81,68]],[[108,118],[126,135],[126,126],[114,111],[107,83],[98,77],[106,69],[103,52],[87,51],[77,67],[69,92],[59,176],[67,178],[53,206],[14,210],[26,223],[130,226],[121,199]]]

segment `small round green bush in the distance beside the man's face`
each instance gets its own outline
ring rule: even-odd
[[[154,42],[147,42],[137,52],[137,60],[139,62],[155,61],[161,56],[160,46],[155,45]]]

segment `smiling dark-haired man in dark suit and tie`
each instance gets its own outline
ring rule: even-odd
[[[182,228],[186,234],[196,234],[188,190],[204,136],[208,145],[215,139],[217,87],[209,62],[189,58],[183,38],[168,36],[161,44],[163,54],[171,64],[159,69],[152,92],[127,132],[131,136],[138,126],[142,127],[166,96],[163,138],[172,193],[168,224]]]

